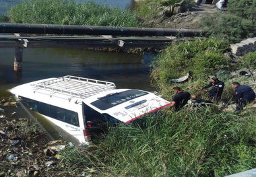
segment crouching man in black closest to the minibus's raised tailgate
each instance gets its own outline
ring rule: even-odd
[[[176,94],[172,98],[170,107],[174,107],[174,109],[178,111],[187,104],[187,101],[190,99],[190,94],[189,92],[183,92],[180,87],[174,87],[172,90]]]

